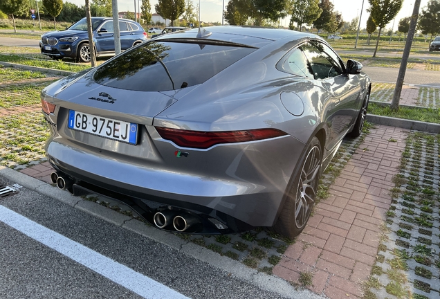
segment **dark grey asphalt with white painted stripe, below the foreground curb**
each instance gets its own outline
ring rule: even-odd
[[[0,185],[14,183],[0,176]],[[28,188],[0,198],[0,298],[321,298],[286,282],[287,291],[273,291],[278,278],[191,242],[158,242],[154,234],[136,233],[136,226],[145,224],[126,219],[117,226]],[[206,254],[233,270],[199,259]],[[266,284],[253,284],[235,269]]]

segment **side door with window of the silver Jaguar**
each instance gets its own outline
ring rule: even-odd
[[[338,55],[326,44],[313,41],[304,44],[302,51],[309,60],[315,80],[321,80],[331,95],[331,111],[326,119],[331,128],[327,150],[331,150],[342,141],[356,119],[360,84],[356,75],[345,72]]]

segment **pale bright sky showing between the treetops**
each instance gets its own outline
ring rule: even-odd
[[[134,11],[134,3],[136,2],[136,10],[138,10],[138,1],[140,0],[118,0],[118,10],[119,11]],[[221,23],[222,18],[222,8],[228,4],[229,0],[201,0],[200,1],[200,14],[202,21],[219,21]],[[332,0],[333,5],[335,6],[335,10],[338,10],[342,13],[342,18],[344,21],[351,21],[356,16],[360,16],[362,3],[364,1],[364,7],[362,10],[361,16],[361,24],[362,28],[365,28],[367,24],[367,18],[369,13],[367,12],[367,8],[369,8],[368,0]],[[83,6],[84,0],[67,0],[64,2],[71,2],[76,4],[77,6]],[[398,21],[404,17],[409,17],[412,14],[412,10],[414,8],[415,0],[403,0],[403,7],[401,11],[398,13],[396,17],[396,22],[394,24],[394,30],[397,30]],[[154,12],[154,6],[158,3],[157,0],[150,0],[150,4],[152,6],[152,12]],[[193,1],[194,6],[199,3],[199,1]],[[421,0],[420,11],[423,7],[428,4],[428,0]],[[283,19],[281,21],[281,26],[288,26],[289,18]],[[387,28],[391,28],[392,21],[388,24]]]

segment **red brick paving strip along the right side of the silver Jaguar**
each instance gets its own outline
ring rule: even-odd
[[[407,132],[386,126],[370,130],[329,188],[329,198],[315,207],[303,233],[274,267],[275,275],[294,282],[301,271],[312,271],[311,291],[335,299],[362,297]]]

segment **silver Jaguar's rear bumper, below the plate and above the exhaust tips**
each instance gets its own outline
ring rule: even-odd
[[[133,164],[114,156],[106,157],[99,154],[98,149],[94,152],[93,149],[77,149],[74,143],[63,138],[50,138],[46,144],[46,154],[55,170],[67,174],[77,183],[89,183],[97,190],[102,188],[129,197],[153,201],[162,206],[189,209],[204,215],[213,215],[220,220],[224,217],[216,215],[226,215],[226,218],[232,217],[250,226],[273,226],[284,204],[284,192],[295,163],[304,149],[304,144],[295,138],[282,139],[284,140],[277,142],[286,143],[289,148],[295,149],[289,152],[287,161],[281,161],[285,156],[277,157],[277,154],[274,154],[279,163],[273,163],[271,160],[269,164],[277,171],[252,173],[247,179],[244,179],[241,170],[237,169],[237,165],[241,163],[239,160],[230,163],[228,170],[231,174],[228,177],[191,173],[192,170],[185,173],[164,171],[159,167],[155,168],[154,165]],[[248,157],[242,159],[246,158]],[[229,162],[225,161],[226,164]],[[291,167],[286,168],[283,163]],[[262,165],[261,168],[264,167],[268,165]],[[256,169],[257,166],[248,172],[255,172]],[[286,173],[286,170],[290,173]],[[274,173],[279,175],[276,176]],[[255,178],[254,181],[249,179],[252,176]]]

